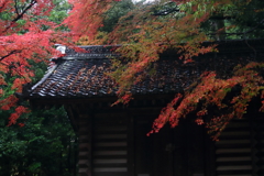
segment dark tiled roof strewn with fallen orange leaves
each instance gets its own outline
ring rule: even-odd
[[[245,45],[245,44],[244,44]],[[234,45],[233,45],[234,46]],[[238,63],[255,61],[256,56],[264,56],[263,46],[260,50],[230,50],[199,56],[196,62],[183,64],[175,59],[172,53],[161,55],[161,61],[154,63],[150,69],[153,74],[141,73],[145,79],[131,88],[134,95],[168,94],[182,91],[193,84],[202,72],[216,70],[221,77],[230,75]],[[111,47],[81,46],[86,53],[66,51],[66,56],[55,61],[46,75],[29,90],[29,98],[86,98],[114,96],[117,85],[106,73],[110,72],[111,57],[117,56]],[[245,46],[246,47],[246,46]]]

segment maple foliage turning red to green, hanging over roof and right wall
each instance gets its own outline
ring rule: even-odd
[[[258,0],[161,0],[143,3],[120,18],[113,30],[103,36],[99,30],[102,26],[103,14],[111,4],[119,2],[70,2],[74,10],[66,22],[80,38],[88,37],[86,44],[123,44],[118,52],[124,56],[125,64],[113,59],[116,70],[110,76],[119,85],[118,102],[124,103],[131,99],[131,86],[143,79],[139,73],[158,61],[160,54],[168,48],[176,51],[176,54],[180,54],[179,58],[188,63],[194,62],[194,56],[217,51],[217,45],[202,45],[205,41],[257,38],[264,34],[264,3]],[[69,22],[73,19],[79,21]],[[213,72],[201,75],[195,87],[177,95],[162,110],[152,132],[158,132],[167,122],[175,127],[180,118],[196,112],[196,122],[205,123],[217,140],[232,118],[242,118],[251,100],[263,95],[260,68],[263,68],[263,63],[250,63],[234,70],[233,75],[226,79],[217,78]],[[223,100],[235,86],[241,87],[240,94],[229,99],[227,108]],[[206,121],[205,117],[212,105],[222,113]]]

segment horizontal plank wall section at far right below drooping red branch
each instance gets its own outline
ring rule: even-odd
[[[264,175],[264,120],[233,120],[216,142],[217,176]]]

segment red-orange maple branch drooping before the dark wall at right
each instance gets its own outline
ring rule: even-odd
[[[264,68],[262,63],[250,63],[245,67],[238,69],[234,76],[229,79],[216,78],[215,73],[207,73],[201,76],[201,81],[194,90],[186,92],[183,97],[178,95],[168,106],[162,110],[160,117],[154,121],[152,132],[158,132],[165,123],[176,127],[180,118],[185,118],[190,112],[197,114],[197,124],[206,124],[212,139],[218,140],[221,131],[233,118],[242,118],[252,98],[263,94],[263,77],[257,74],[258,68]],[[231,92],[235,86],[240,86],[240,94],[226,100],[227,94]],[[238,91],[238,90],[235,90]],[[263,99],[263,96],[261,97]],[[179,102],[179,99],[180,102]],[[224,101],[226,100],[226,101]],[[213,108],[212,108],[213,107]],[[212,109],[221,111],[219,116],[208,120],[208,114]],[[263,107],[260,109],[263,110]]]

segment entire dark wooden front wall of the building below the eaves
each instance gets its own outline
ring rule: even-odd
[[[233,120],[213,143],[191,118],[146,136],[161,107],[85,107],[70,111],[78,124],[79,176],[264,175],[260,113]]]

